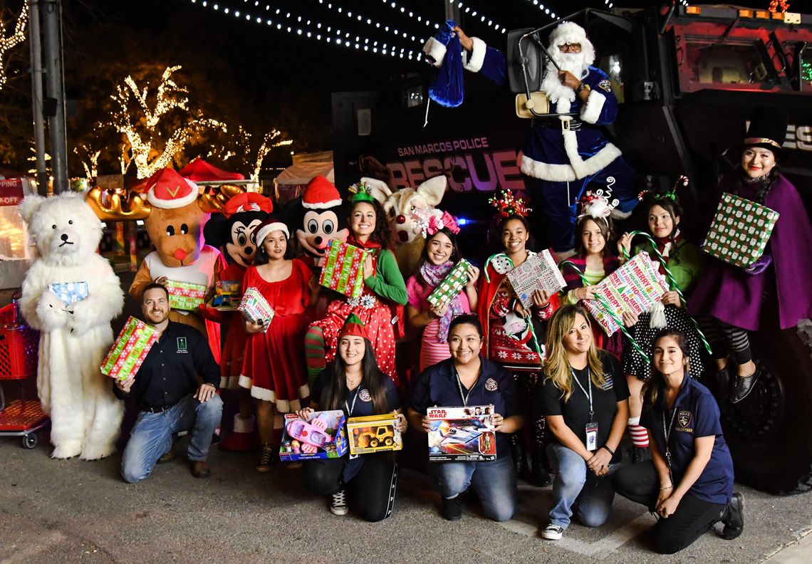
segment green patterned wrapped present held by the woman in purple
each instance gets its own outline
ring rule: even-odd
[[[779,213],[724,192],[702,250],[743,269],[761,258]]]

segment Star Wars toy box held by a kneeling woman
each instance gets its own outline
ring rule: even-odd
[[[494,407],[430,407],[430,462],[496,459]]]

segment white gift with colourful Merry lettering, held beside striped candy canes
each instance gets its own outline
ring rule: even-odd
[[[649,253],[641,251],[603,278],[598,284],[595,299],[585,299],[582,303],[607,335],[611,335],[620,329],[620,325],[609,315],[606,306],[618,319],[624,311],[640,315],[649,311],[667,291],[668,282],[659,273],[659,262],[651,260]]]

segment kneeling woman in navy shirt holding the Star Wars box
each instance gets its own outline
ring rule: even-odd
[[[516,474],[510,434],[525,423],[516,381],[508,372],[480,355],[482,325],[473,314],[456,316],[448,328],[451,358],[421,374],[412,394],[408,418],[415,428],[430,431],[429,407],[494,406],[496,459],[482,462],[438,462],[432,467],[443,496],[443,517],[462,517],[460,493],[473,487],[485,516],[507,521],[516,507]]]

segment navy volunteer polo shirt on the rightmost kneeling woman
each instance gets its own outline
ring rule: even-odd
[[[654,406],[645,403],[640,417],[640,424],[649,429],[664,457],[663,415],[665,426],[668,428],[672,413],[675,414],[674,427],[668,441],[674,487],[680,484],[688,465],[696,455],[695,439],[714,436],[716,440],[711,451],[711,459],[689,489],[689,493],[705,502],[727,503],[733,493],[733,460],[722,435],[719,405],[710,390],[686,374],[680,393],[674,401],[674,409],[676,412],[668,410],[665,392],[660,388]]]

